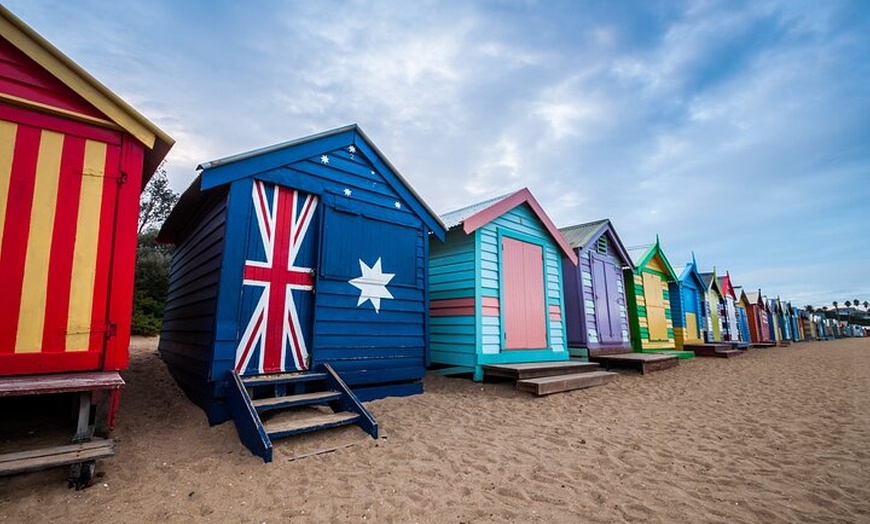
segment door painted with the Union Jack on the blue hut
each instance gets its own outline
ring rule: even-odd
[[[308,369],[317,253],[317,197],[255,181],[248,231],[239,374]]]

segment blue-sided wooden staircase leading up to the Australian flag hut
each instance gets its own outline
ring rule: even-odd
[[[242,443],[265,462],[272,440],[356,424],[378,438],[378,424],[328,364],[314,371],[240,376],[230,372],[227,404]]]

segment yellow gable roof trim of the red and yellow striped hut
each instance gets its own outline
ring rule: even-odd
[[[96,119],[11,95],[3,95],[2,99],[36,111],[126,131],[145,146],[142,176],[144,187],[169,149],[175,144],[175,140],[2,5],[0,5],[0,37],[8,40],[28,58],[97,108],[108,120]]]

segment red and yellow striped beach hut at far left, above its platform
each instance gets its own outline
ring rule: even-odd
[[[0,376],[127,366],[139,195],[173,142],[0,6]]]

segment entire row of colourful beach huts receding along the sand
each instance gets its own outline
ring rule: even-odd
[[[0,474],[111,453],[82,443],[114,424],[138,197],[172,145],[0,6],[0,396],[78,395],[77,444]],[[674,268],[658,239],[627,249],[609,220],[558,229],[527,189],[438,216],[356,125],[198,171],[160,232],[175,253],[159,350],[264,458],[271,437],[315,427],[375,435],[361,401],[418,393],[435,367],[480,380],[829,335],[728,273]],[[267,427],[269,410],[308,404],[336,413]]]

